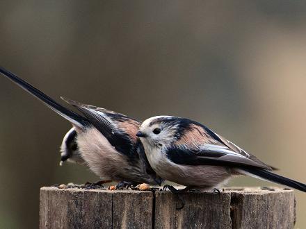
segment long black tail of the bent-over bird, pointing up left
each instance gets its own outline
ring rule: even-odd
[[[22,80],[10,71],[4,69],[3,67],[0,67],[0,73],[3,74],[3,76],[6,76],[10,80],[12,80],[19,87],[22,87],[24,90],[26,90],[27,92],[35,96],[37,99],[45,103],[45,105],[51,108],[51,110],[54,110],[56,113],[60,114],[72,124],[77,125],[79,127],[86,126],[88,124],[88,121],[86,121],[85,117],[82,117],[80,114],[77,114],[76,112],[65,108],[63,105],[54,101],[54,99],[51,99],[49,96],[47,96],[47,94],[41,92],[40,90],[33,87],[32,85]]]

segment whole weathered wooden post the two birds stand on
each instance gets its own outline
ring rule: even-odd
[[[40,189],[40,228],[293,228],[289,189],[188,192]]]

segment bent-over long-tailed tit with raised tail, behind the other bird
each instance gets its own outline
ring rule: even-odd
[[[82,163],[83,159],[90,170],[104,180],[161,184],[162,179],[150,167],[143,144],[136,137],[139,121],[111,110],[62,98],[82,115],[78,114],[10,71],[0,67],[0,73],[70,121],[73,128],[64,137],[62,161],[72,158]],[[73,158],[71,153],[75,153],[76,157]]]

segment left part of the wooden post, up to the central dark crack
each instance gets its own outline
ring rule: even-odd
[[[40,189],[40,228],[152,228],[152,192]]]

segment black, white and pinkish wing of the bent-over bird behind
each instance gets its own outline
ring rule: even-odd
[[[140,121],[127,117],[124,114],[106,110],[94,105],[86,105],[61,97],[67,103],[77,108],[88,119],[90,124],[99,130],[108,142],[123,155],[127,155],[133,166],[143,168],[143,179],[147,173],[157,184],[161,185],[163,179],[156,175],[150,166],[140,139],[136,136],[140,128]],[[140,162],[140,164],[138,163]],[[136,164],[135,164],[136,163]],[[150,181],[151,182],[151,181]]]

